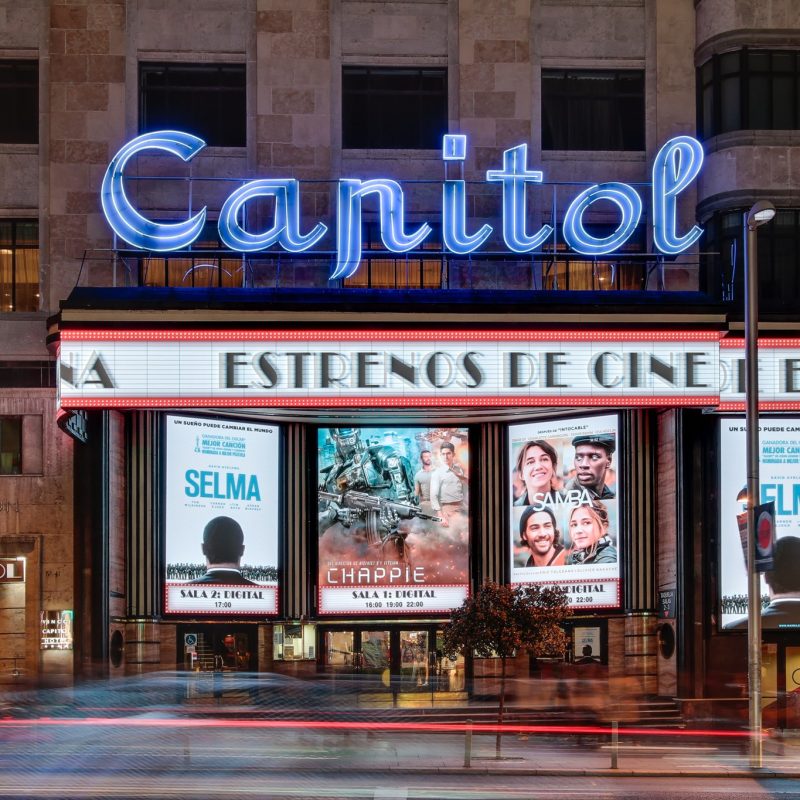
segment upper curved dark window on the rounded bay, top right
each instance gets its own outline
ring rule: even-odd
[[[697,71],[698,127],[702,137],[740,130],[800,128],[800,53],[735,50]]]

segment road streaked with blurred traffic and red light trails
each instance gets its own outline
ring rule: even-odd
[[[0,798],[797,798],[800,741],[768,742],[751,775],[740,739],[494,737],[432,728],[139,716],[0,720]]]

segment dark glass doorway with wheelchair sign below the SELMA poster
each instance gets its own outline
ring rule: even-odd
[[[253,625],[178,625],[178,668],[193,672],[254,672],[258,668]]]

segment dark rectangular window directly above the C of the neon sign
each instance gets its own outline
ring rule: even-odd
[[[214,147],[247,144],[244,64],[140,64],[139,132],[182,130]]]

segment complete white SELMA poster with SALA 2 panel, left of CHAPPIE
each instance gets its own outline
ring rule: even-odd
[[[167,613],[278,612],[279,430],[167,416]]]

